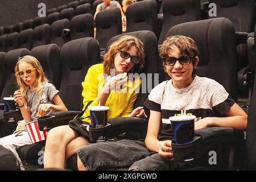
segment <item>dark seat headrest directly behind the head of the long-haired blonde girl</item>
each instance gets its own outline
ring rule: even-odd
[[[28,51],[28,49],[25,48],[13,49],[7,52],[5,55],[7,69],[9,69],[11,73],[14,73],[14,67],[18,61],[18,57],[26,56],[29,54],[30,51]]]

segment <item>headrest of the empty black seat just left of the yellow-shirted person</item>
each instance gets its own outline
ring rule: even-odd
[[[90,54],[90,52],[93,52]],[[97,53],[98,61],[100,61],[100,48],[98,42],[94,38],[81,38],[71,40],[64,44],[60,51],[60,59],[63,65],[69,70],[81,70],[86,61],[95,60],[90,58]]]

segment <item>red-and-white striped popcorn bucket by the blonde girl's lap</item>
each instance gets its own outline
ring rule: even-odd
[[[28,135],[32,143],[40,142],[46,140],[49,130],[40,131],[38,127],[38,121],[32,121],[25,125]]]

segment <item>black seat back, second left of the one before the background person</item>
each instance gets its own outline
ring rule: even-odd
[[[70,22],[68,19],[61,19],[53,22],[51,25],[51,43],[57,44],[60,48],[66,43],[63,35],[64,29],[70,29]]]

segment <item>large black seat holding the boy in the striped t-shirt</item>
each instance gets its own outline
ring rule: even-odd
[[[193,31],[191,31],[193,30]],[[230,96],[237,101],[237,53],[236,36],[233,23],[227,18],[214,18],[199,20],[195,22],[181,23],[172,27],[166,36],[185,35],[194,39],[199,47],[200,61],[196,74],[206,76],[218,81],[224,86]],[[221,162],[217,163],[217,169],[234,169],[234,149],[242,145],[244,136],[242,131],[236,131],[225,127],[207,127],[196,130],[196,136],[200,136],[201,148],[205,154],[216,147],[225,148],[228,155],[223,156]],[[209,143],[212,145],[210,148]],[[209,149],[210,148],[210,149]],[[184,148],[189,151],[188,148]],[[217,149],[214,149],[217,151]],[[192,150],[201,152],[202,150]],[[208,161],[198,158],[201,164],[211,168]]]

